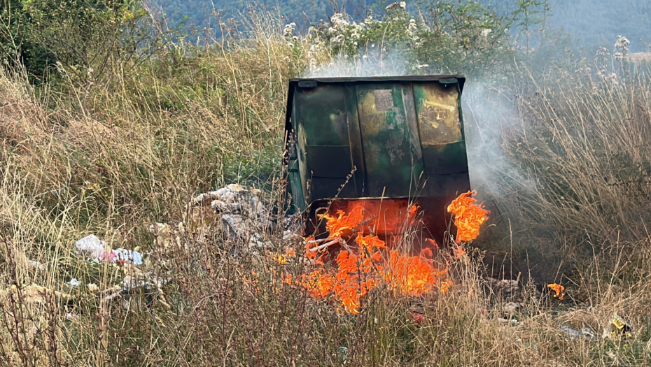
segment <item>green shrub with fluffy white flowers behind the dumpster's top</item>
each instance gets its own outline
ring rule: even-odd
[[[335,13],[307,34],[309,71],[320,73],[333,59],[361,69],[383,64],[391,73],[433,74],[489,71],[510,59],[512,47],[503,17],[469,1],[437,1],[412,14],[405,1],[391,3],[384,15],[356,22]],[[425,15],[428,14],[428,15]],[[285,37],[293,47],[294,27]]]

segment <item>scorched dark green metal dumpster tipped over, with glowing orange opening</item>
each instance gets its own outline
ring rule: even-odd
[[[441,243],[447,205],[470,190],[458,75],[290,80],[286,178],[306,234],[363,213],[363,232]],[[412,231],[412,232],[414,232]]]

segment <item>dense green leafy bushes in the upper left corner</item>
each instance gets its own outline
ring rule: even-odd
[[[96,80],[119,62],[139,64],[165,42],[138,0],[2,0],[0,59],[43,81]]]

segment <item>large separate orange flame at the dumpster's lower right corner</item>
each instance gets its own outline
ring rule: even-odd
[[[454,213],[456,226],[456,242],[471,241],[479,236],[479,226],[486,221],[488,212],[476,204],[477,200],[470,197],[477,192],[466,192],[454,199],[447,207],[448,213]]]

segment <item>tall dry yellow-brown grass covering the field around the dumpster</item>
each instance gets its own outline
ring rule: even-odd
[[[149,224],[184,220],[191,197],[230,182],[263,187],[274,203],[286,80],[307,59],[268,36],[281,34],[273,22],[255,22],[264,26],[232,48],[118,68],[102,85],[36,90],[20,73],[0,73],[2,364],[651,364],[649,189],[636,181],[651,161],[651,96],[640,75],[618,74],[615,84],[591,73],[522,71],[517,87],[495,89],[490,103],[469,102],[467,116],[503,124],[492,142],[535,182],[523,188],[506,171],[512,180],[498,181],[500,208],[509,208],[500,215],[512,228],[493,213],[506,229],[496,246],[544,253],[554,245],[556,258],[571,260],[563,303],[533,283],[493,291],[477,250],[457,264],[451,292],[409,298],[378,287],[352,316],[278,282],[273,261],[226,256],[218,229],[175,233],[167,247],[155,241]],[[127,270],[79,259],[73,243],[87,233],[141,247],[172,282],[100,301]],[[253,272],[255,286],[245,279]],[[71,278],[82,285],[69,287]],[[510,315],[507,301],[521,308]],[[425,320],[416,323],[413,311]],[[633,338],[589,342],[559,329],[585,325],[601,335],[614,312],[633,324]]]

